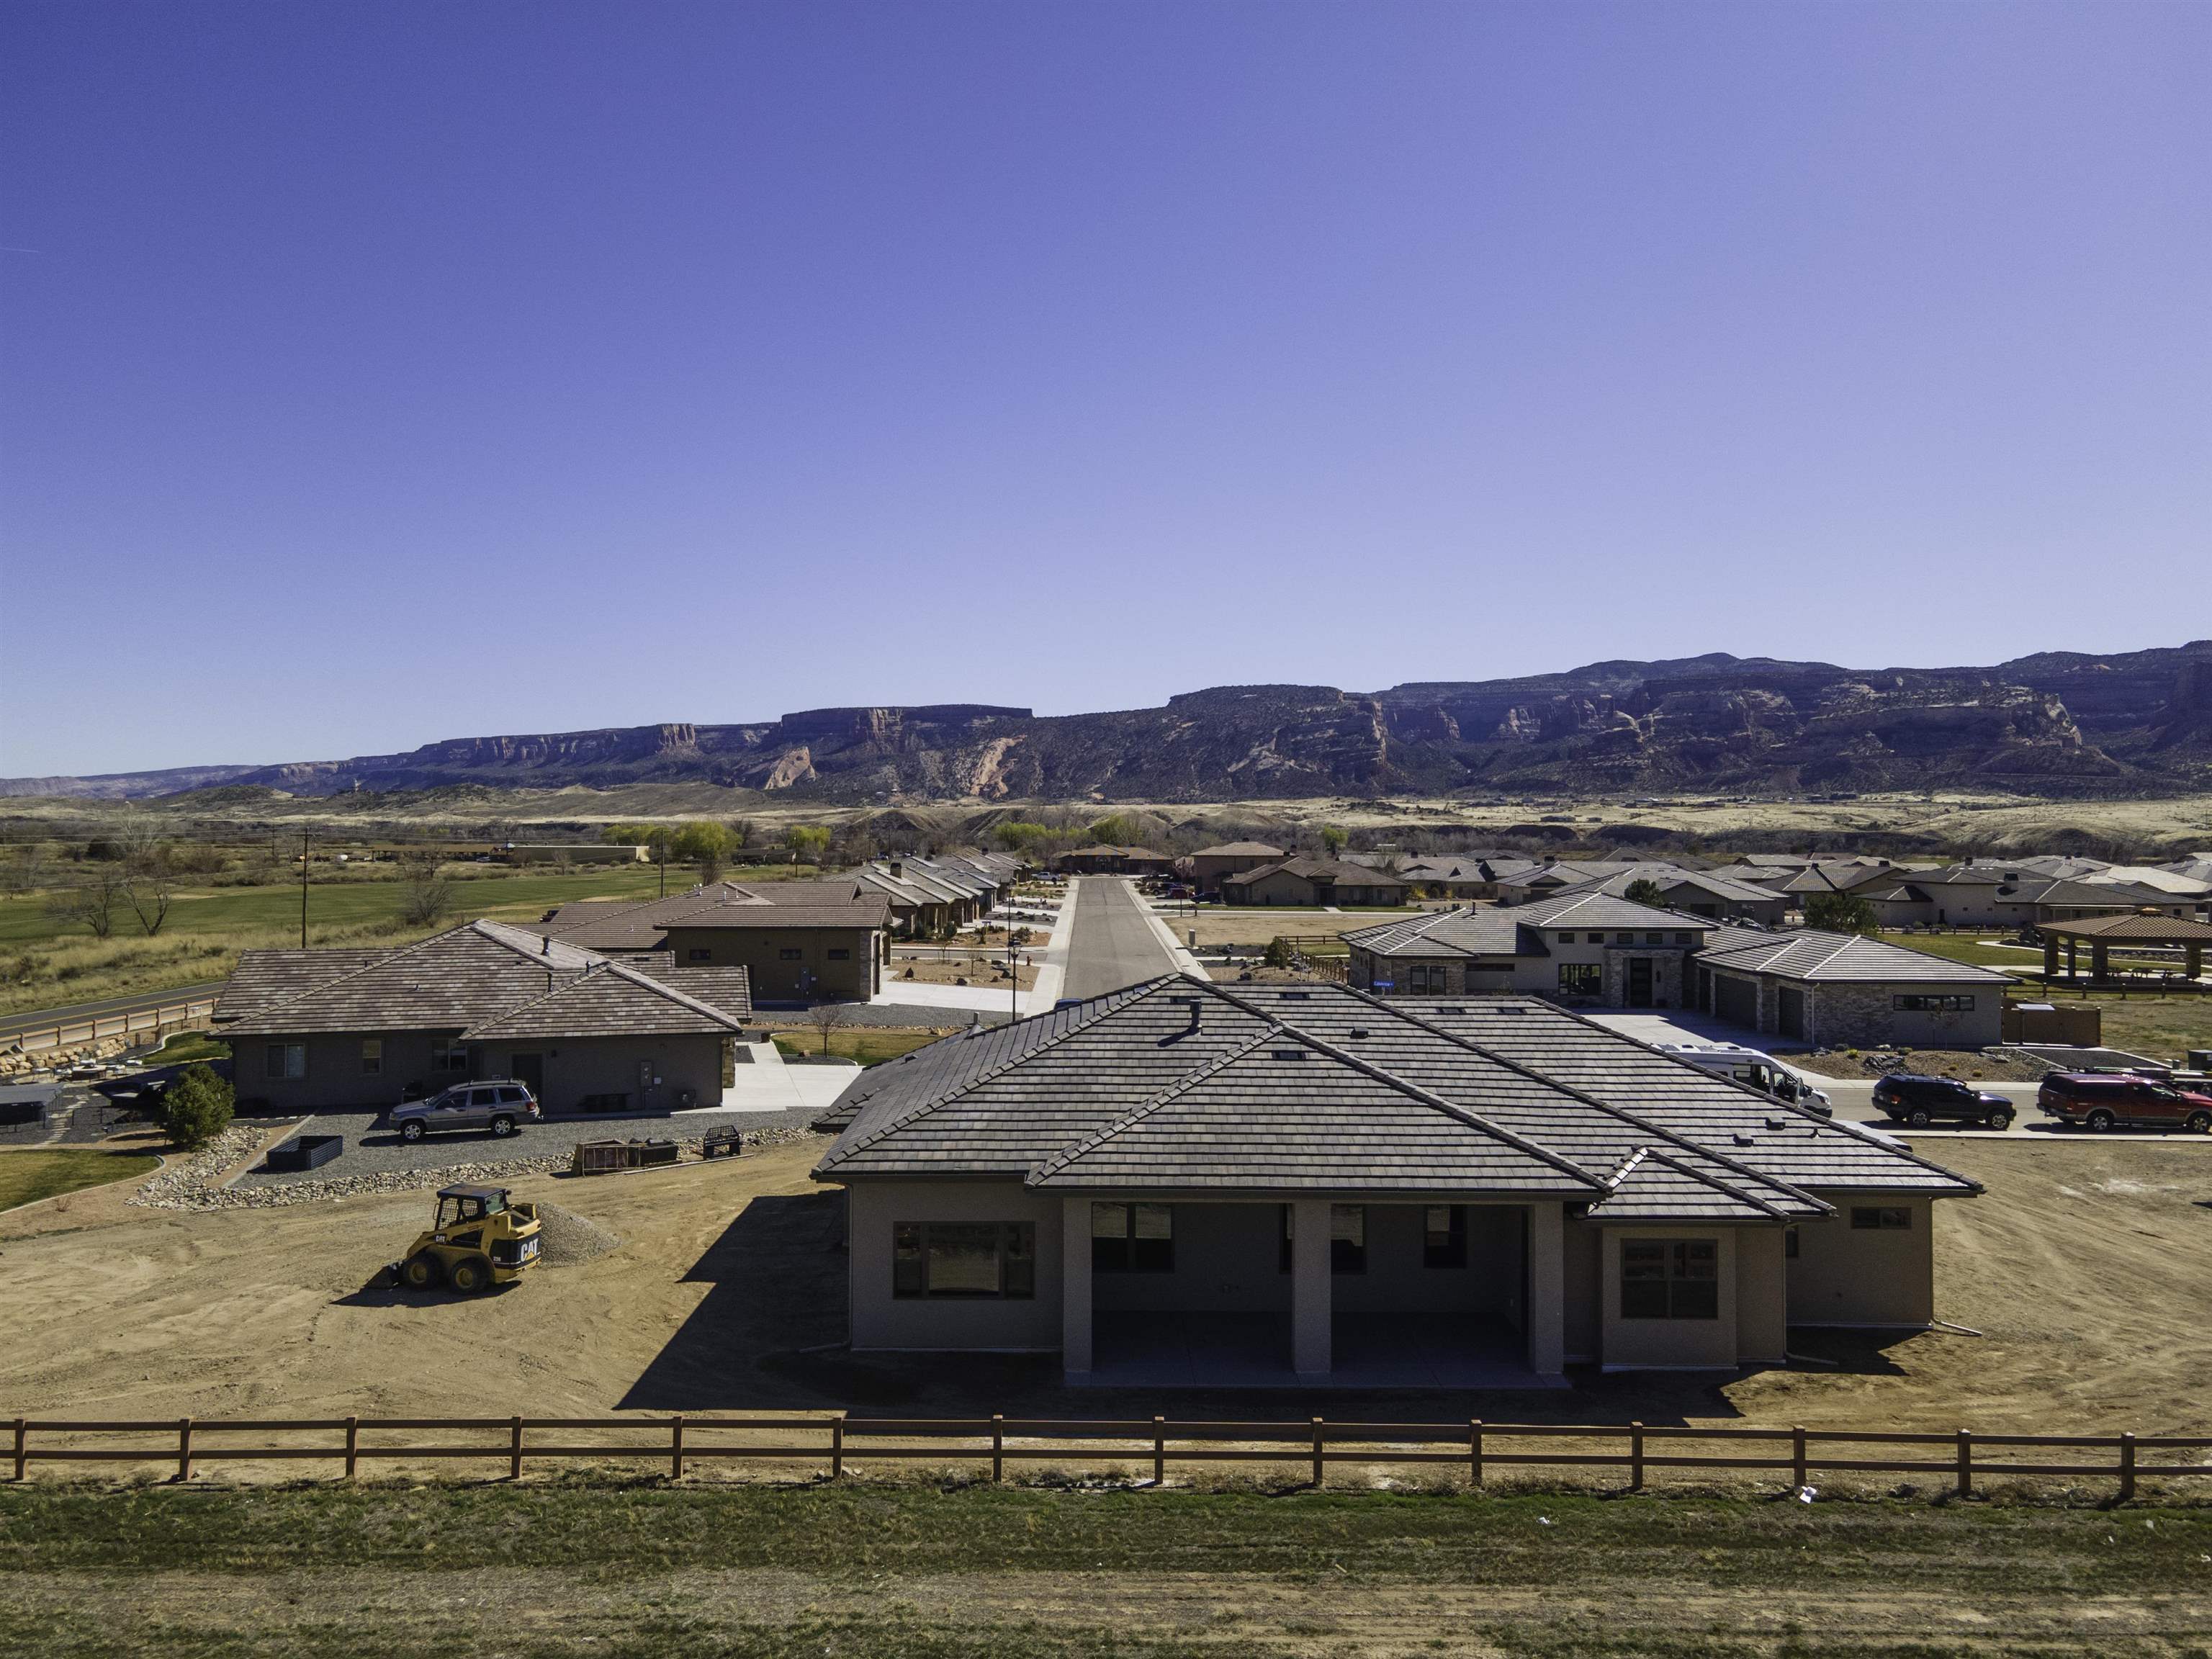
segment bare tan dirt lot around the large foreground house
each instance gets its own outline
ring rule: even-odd
[[[0,1217],[0,1407],[86,1416],[599,1413],[854,1407],[1221,1416],[1252,1396],[1068,1394],[1048,1356],[854,1358],[841,1199],[821,1141],[734,1164],[540,1177],[622,1243],[482,1301],[363,1290],[422,1194],[173,1214],[128,1186]],[[1305,1398],[1358,1418],[1805,1422],[1982,1431],[2212,1429],[2212,1144],[1947,1141],[1986,1181],[1938,1206],[1938,1312],[1986,1336],[1801,1332],[1840,1369],[1584,1378],[1551,1394]],[[66,1210],[58,1212],[58,1203]],[[1290,1409],[1274,1402],[1265,1416]]]

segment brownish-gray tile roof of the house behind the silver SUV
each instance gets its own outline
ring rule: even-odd
[[[226,989],[217,1022],[228,1037],[352,1031],[449,1031],[456,1035],[648,1035],[734,1031],[743,1013],[661,984],[637,967],[504,922],[462,922],[418,945],[334,951],[338,973],[270,1000],[261,951],[239,962],[243,993]],[[272,956],[301,956],[279,951]],[[290,971],[292,964],[274,964]],[[745,998],[750,1013],[750,998]],[[520,1024],[518,1024],[520,1022]]]

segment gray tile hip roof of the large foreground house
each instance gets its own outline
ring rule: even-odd
[[[1973,1192],[1874,1135],[1526,998],[1164,978],[858,1077],[821,1179],[1037,1188],[1551,1192],[1644,1214],[1825,1214],[1807,1186]],[[1641,1148],[1663,1164],[1628,1194]],[[1619,1203],[1617,1210],[1604,1210]],[[1630,1210],[1630,1203],[1646,1206]]]

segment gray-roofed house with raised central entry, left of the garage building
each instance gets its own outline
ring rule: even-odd
[[[1568,894],[1533,905],[1482,905],[1345,933],[1354,989],[1376,995],[1522,991],[1606,1009],[1679,1009],[1683,962],[1717,925]]]

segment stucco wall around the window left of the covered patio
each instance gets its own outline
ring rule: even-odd
[[[852,1345],[1055,1352],[1060,1347],[1060,1194],[1020,1181],[854,1181],[847,1188]],[[1037,1294],[1020,1301],[931,1301],[891,1294],[900,1221],[1035,1221]]]

